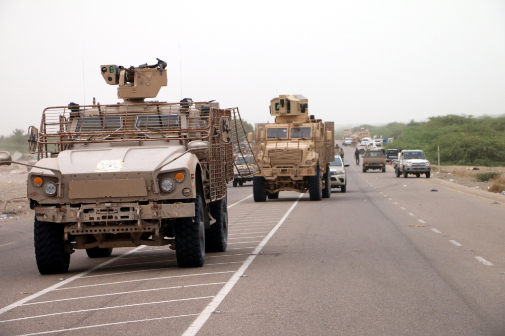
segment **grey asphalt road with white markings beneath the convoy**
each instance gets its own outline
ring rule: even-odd
[[[230,187],[200,268],[143,247],[40,275],[32,221],[0,223],[0,335],[505,335],[505,204],[351,159],[322,201]]]

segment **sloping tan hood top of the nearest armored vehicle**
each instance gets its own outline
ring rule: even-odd
[[[135,146],[65,150],[57,158],[46,158],[37,165],[59,169],[63,175],[99,173],[111,164],[120,167],[121,172],[152,172],[163,162],[186,151],[184,146]],[[57,163],[57,166],[56,164]],[[168,166],[165,167],[167,169]],[[47,171],[44,171],[44,173]],[[105,172],[105,171],[104,171]],[[52,174],[50,172],[47,172]]]

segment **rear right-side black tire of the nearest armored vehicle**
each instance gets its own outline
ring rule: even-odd
[[[205,252],[224,252],[228,246],[228,203],[226,197],[210,203],[209,208],[216,222],[205,230]]]

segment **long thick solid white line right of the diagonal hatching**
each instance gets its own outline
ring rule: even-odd
[[[238,282],[238,279],[240,276],[245,272],[247,267],[254,261],[258,253],[267,245],[268,241],[272,236],[275,234],[277,229],[282,225],[282,223],[286,220],[287,216],[293,211],[294,207],[296,204],[298,204],[298,201],[304,194],[300,194],[298,196],[298,199],[291,205],[289,210],[282,216],[281,220],[277,223],[277,225],[270,231],[270,233],[261,241],[260,244],[258,244],[258,247],[254,251],[252,251],[251,255],[244,261],[242,266],[231,276],[231,278],[228,280],[226,285],[223,286],[221,291],[214,297],[214,299],[211,300],[209,305],[198,315],[198,317],[191,323],[191,325],[184,331],[182,336],[194,336],[196,333],[200,330],[200,328],[207,322],[209,317],[211,316],[212,312],[216,310],[216,308],[221,304],[221,302],[224,300],[224,298],[230,293],[231,289],[235,286],[235,284]]]

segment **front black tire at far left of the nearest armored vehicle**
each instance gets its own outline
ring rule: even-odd
[[[33,240],[35,259],[40,274],[57,274],[68,271],[70,253],[65,252],[63,225],[38,221],[35,218]]]

